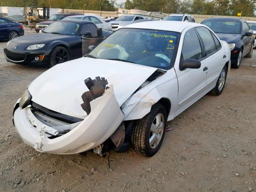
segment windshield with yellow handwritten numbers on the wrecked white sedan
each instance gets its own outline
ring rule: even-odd
[[[175,60],[179,35],[171,31],[121,28],[88,56],[168,70]]]

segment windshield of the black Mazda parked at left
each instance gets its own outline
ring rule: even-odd
[[[80,25],[76,22],[58,21],[50,24],[47,28],[42,30],[42,32],[60,35],[75,35],[79,28]]]

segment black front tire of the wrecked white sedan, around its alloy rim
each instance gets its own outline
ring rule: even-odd
[[[153,122],[156,122],[156,117],[158,115],[160,116],[161,123],[162,120],[164,122],[163,126],[161,126],[161,132],[156,131],[156,133],[159,133],[159,139],[156,141],[157,144],[155,144],[153,148],[153,145],[150,146],[149,142],[149,139],[152,137],[152,133],[150,130]],[[131,144],[134,150],[138,154],[147,157],[151,157],[156,154],[164,139],[166,123],[167,114],[164,106],[162,104],[155,104],[154,106],[152,106],[151,111],[146,116],[144,116],[142,119],[136,120],[136,122],[134,123],[131,136]]]

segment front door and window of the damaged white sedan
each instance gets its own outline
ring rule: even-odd
[[[196,60],[202,60],[203,58],[202,46],[194,28],[189,29],[184,36],[180,63],[188,58]],[[178,110],[176,116],[202,97],[206,87],[206,73],[203,71],[203,64],[199,69],[187,68],[181,70],[180,66],[174,66],[174,68],[178,78]]]

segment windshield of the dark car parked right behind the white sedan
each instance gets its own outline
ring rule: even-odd
[[[211,28],[215,33],[240,34],[241,22],[230,20],[204,20],[202,24]]]

